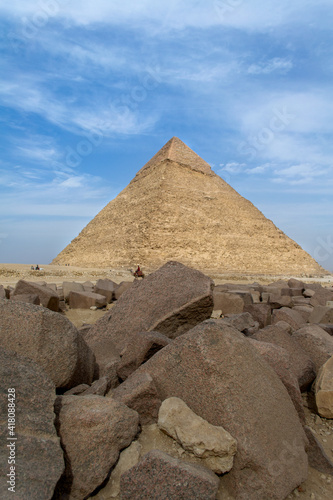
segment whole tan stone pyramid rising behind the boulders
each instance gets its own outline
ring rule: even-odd
[[[169,260],[220,272],[324,272],[177,137],[52,263],[153,269]]]

